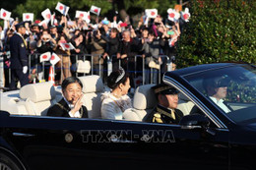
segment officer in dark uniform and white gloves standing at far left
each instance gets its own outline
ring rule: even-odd
[[[11,52],[11,85],[10,90],[17,89],[16,81],[20,81],[21,86],[29,84],[27,56],[27,42],[23,35],[26,33],[25,23],[15,26],[16,33],[10,39]]]

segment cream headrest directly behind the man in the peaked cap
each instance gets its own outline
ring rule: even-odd
[[[157,105],[158,100],[152,86],[154,85],[141,85],[136,88],[133,98],[134,108],[144,110]]]

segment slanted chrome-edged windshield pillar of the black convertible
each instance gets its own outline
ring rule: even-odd
[[[183,94],[186,97],[188,97],[191,101],[194,101],[194,104],[197,107],[201,108],[203,110],[203,112],[209,117],[209,119],[211,119],[211,121],[213,123],[216,124],[216,126],[218,128],[227,129],[227,127],[224,125],[224,123],[211,110],[209,110],[205,104],[200,102],[200,100],[194,94],[192,94],[189,90],[187,90],[183,85],[180,85],[174,79],[169,78],[165,75],[163,77],[163,83],[165,83],[167,85],[172,85],[172,86],[176,87],[177,89],[181,89],[184,92]]]

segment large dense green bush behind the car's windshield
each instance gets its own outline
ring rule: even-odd
[[[191,0],[191,20],[177,45],[179,67],[256,62],[256,5],[251,0]]]

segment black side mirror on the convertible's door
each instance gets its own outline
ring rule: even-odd
[[[182,129],[208,129],[210,121],[203,115],[187,115],[180,122]]]

